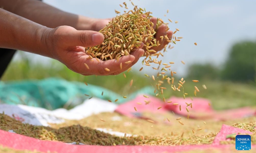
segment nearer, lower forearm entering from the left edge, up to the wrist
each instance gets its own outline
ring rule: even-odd
[[[50,28],[0,9],[0,47],[23,50],[47,57],[51,53],[43,46],[44,33]]]

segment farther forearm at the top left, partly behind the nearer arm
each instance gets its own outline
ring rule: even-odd
[[[0,7],[50,28],[68,25],[77,30],[92,30],[94,20],[61,11],[37,0],[0,0]]]

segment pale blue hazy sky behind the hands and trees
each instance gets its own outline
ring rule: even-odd
[[[115,9],[122,11],[119,4],[129,0],[43,0],[44,3],[63,11],[92,18],[115,17]],[[179,28],[175,36],[183,37],[172,50],[164,53],[164,63],[175,62],[172,69],[185,75],[193,63],[211,62],[221,66],[228,58],[232,44],[244,40],[256,40],[256,1],[250,0],[133,0],[138,7],[153,12],[153,16],[170,23],[170,30]],[[169,13],[167,14],[167,10]],[[167,16],[164,17],[164,14]],[[197,43],[197,46],[194,43]],[[29,54],[29,53],[28,53]],[[37,62],[48,59],[39,55],[28,55]],[[17,59],[17,57],[16,57]],[[180,61],[186,64],[182,64]],[[140,69],[141,61],[133,66]],[[143,69],[150,72],[152,69]]]

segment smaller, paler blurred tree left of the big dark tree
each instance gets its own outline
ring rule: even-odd
[[[219,69],[211,63],[195,63],[189,66],[187,77],[195,80],[217,79],[219,74]]]

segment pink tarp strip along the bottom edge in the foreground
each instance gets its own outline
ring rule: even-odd
[[[225,153],[231,152],[230,149],[234,150],[235,145],[220,145],[219,141],[225,140],[227,134],[236,132],[247,132],[239,128],[233,128],[230,126],[223,125],[220,133],[214,140],[214,145],[182,145],[182,146],[93,146],[93,145],[71,145],[62,142],[54,141],[42,141],[35,138],[6,132],[0,130],[0,145],[19,150],[37,150],[41,152],[58,152],[58,153],[82,153],[82,152],[93,152],[93,153],[174,153],[186,150],[194,149],[220,149],[225,150]],[[252,145],[251,150],[256,148],[256,145]],[[255,150],[254,150],[255,151]]]

